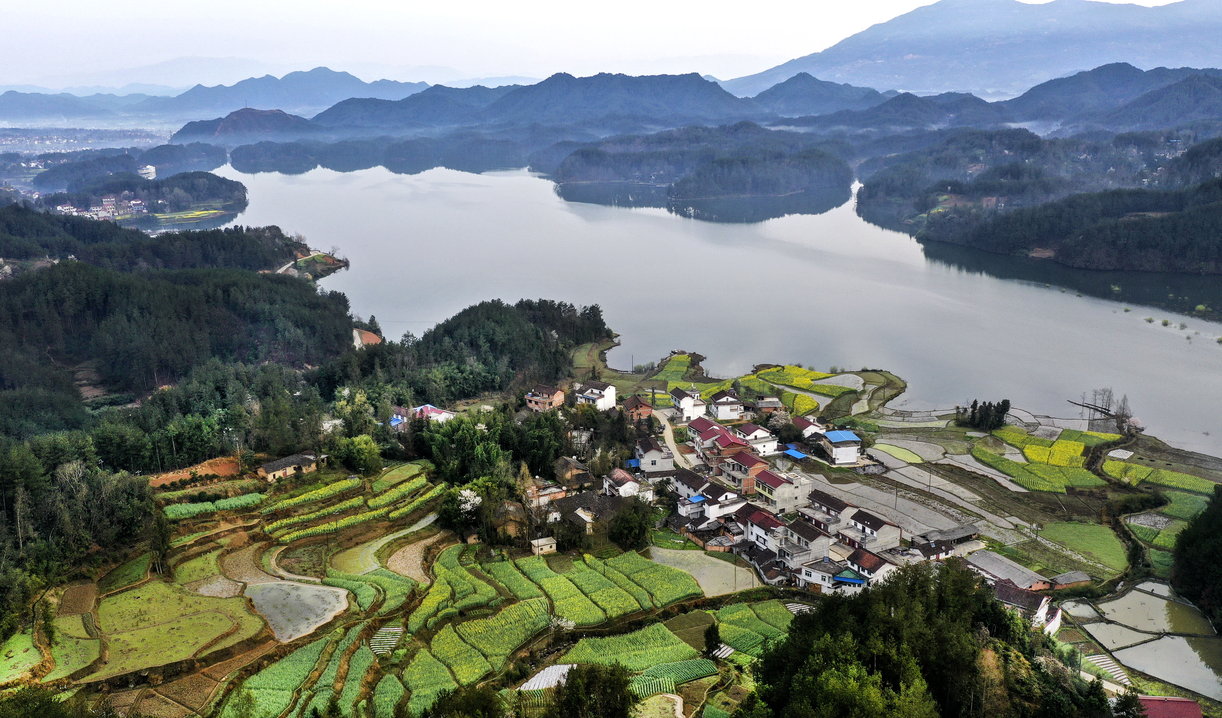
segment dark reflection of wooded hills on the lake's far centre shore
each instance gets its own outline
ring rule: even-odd
[[[794,192],[781,197],[723,197],[671,199],[667,184],[633,182],[566,182],[556,186],[566,201],[606,206],[666,208],[670,212],[706,222],[750,223],[786,215],[821,215],[852,198],[849,189]]]

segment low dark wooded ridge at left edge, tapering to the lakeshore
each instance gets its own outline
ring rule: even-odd
[[[7,260],[67,259],[119,271],[232,267],[269,270],[308,248],[280,227],[227,227],[166,232],[84,217],[50,215],[20,204],[0,208],[0,256]]]

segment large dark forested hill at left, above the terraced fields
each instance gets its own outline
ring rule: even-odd
[[[144,392],[213,358],[316,365],[351,344],[347,298],[303,280],[61,261],[0,282],[0,433],[86,427],[73,368]]]

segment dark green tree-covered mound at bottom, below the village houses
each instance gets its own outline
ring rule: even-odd
[[[1069,651],[1073,651],[1072,648]],[[959,559],[899,569],[794,618],[737,718],[1108,718],[1102,684],[1007,611]]]

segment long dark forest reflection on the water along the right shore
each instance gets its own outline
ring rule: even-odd
[[[1216,276],[1174,272],[1081,270],[1050,259],[995,254],[946,242],[920,242],[926,259],[969,272],[1001,280],[1062,287],[1113,302],[1160,306],[1193,314],[1198,305],[1209,309],[1200,316],[1217,320],[1222,310],[1222,280]]]

